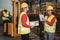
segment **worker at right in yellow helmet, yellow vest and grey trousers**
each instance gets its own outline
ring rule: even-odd
[[[55,29],[56,29],[56,17],[52,14],[53,7],[47,7],[47,15],[45,16],[45,40],[54,40]]]

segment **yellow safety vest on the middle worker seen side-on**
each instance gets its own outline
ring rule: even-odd
[[[20,14],[20,17],[19,17],[19,22],[18,22],[18,34],[28,34],[28,33],[30,33],[30,28],[26,28],[26,27],[24,27],[23,25],[22,25],[22,20],[21,20],[21,18],[22,18],[22,15],[24,14],[24,12],[22,12],[21,14]],[[27,17],[27,22],[26,22],[28,25],[29,25],[29,19],[28,19],[28,17]]]

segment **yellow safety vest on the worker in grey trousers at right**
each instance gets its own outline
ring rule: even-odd
[[[45,20],[48,20],[49,22],[51,22],[51,20],[53,19],[54,15],[51,15],[48,19],[47,19],[48,16],[45,16]],[[56,29],[56,22],[57,20],[55,19],[55,22],[52,26],[48,25],[46,22],[45,22],[45,25],[44,25],[44,31],[45,32],[50,32],[50,33],[55,33],[55,29]]]

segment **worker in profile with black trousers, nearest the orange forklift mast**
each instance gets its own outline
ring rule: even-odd
[[[19,17],[18,22],[18,34],[21,35],[22,40],[29,40],[30,25],[29,18],[27,16],[27,11],[29,10],[27,3],[21,4],[22,12]]]

